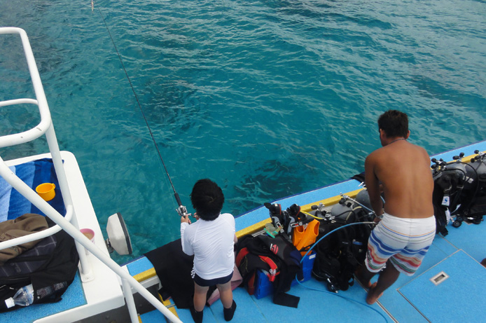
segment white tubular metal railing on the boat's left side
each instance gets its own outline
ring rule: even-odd
[[[52,219],[56,226],[49,228],[45,231],[39,233],[32,233],[24,237],[15,238],[5,242],[0,242],[0,249],[5,249],[8,247],[13,247],[14,245],[20,245],[25,242],[30,242],[33,240],[39,240],[45,238],[48,235],[52,235],[61,229],[66,231],[71,237],[76,240],[76,248],[81,262],[81,277],[84,281],[92,280],[90,277],[91,270],[89,266],[88,259],[85,255],[85,249],[88,249],[91,254],[96,256],[100,261],[102,261],[106,266],[108,266],[114,273],[120,276],[123,286],[123,294],[125,296],[125,301],[127,303],[127,308],[130,312],[130,319],[133,323],[139,322],[137,316],[137,310],[134,305],[132,288],[137,291],[141,296],[143,296],[149,303],[151,303],[155,308],[162,312],[167,319],[171,322],[181,323],[181,320],[176,317],[170,310],[168,310],[165,305],[163,305],[155,296],[153,296],[145,287],[143,287],[137,280],[134,279],[127,273],[126,270],[121,268],[118,263],[113,261],[108,255],[106,255],[102,249],[99,249],[95,244],[93,244],[88,238],[81,233],[78,228],[76,228],[76,216],[72,217],[74,214],[73,202],[71,199],[71,193],[69,191],[69,186],[67,183],[66,173],[64,172],[64,166],[62,164],[62,158],[59,146],[57,144],[57,139],[54,132],[54,127],[50,118],[50,111],[47,104],[46,95],[44,94],[43,86],[41,83],[41,77],[39,76],[39,71],[36,67],[36,62],[34,60],[34,54],[32,53],[32,48],[27,37],[27,33],[20,28],[15,27],[3,27],[0,28],[0,34],[18,34],[22,40],[22,46],[24,48],[25,57],[27,59],[27,65],[29,67],[30,75],[32,78],[32,83],[34,85],[34,92],[36,95],[36,100],[34,99],[13,99],[9,101],[0,102],[0,107],[8,106],[13,104],[36,104],[39,106],[39,112],[41,114],[41,122],[36,127],[25,132],[20,132],[18,134],[6,135],[0,137],[0,148],[6,146],[13,146],[17,144],[23,144],[30,142],[34,139],[46,135],[48,141],[49,151],[53,158],[53,163],[55,167],[55,172],[57,174],[57,179],[60,184],[60,190],[62,197],[64,199],[64,205],[66,206],[66,217],[57,212],[51,205],[43,200],[34,190],[25,184],[22,179],[17,177],[12,170],[6,165],[4,160],[0,157],[0,176],[3,177],[8,184],[15,188],[20,194],[22,194],[29,202],[38,207],[46,216]],[[76,214],[74,214],[76,215]],[[71,221],[74,224],[71,224]],[[76,226],[75,226],[76,225]]]

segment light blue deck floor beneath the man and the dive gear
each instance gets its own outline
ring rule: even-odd
[[[238,287],[232,322],[479,322],[486,299],[486,268],[479,263],[486,258],[486,224],[448,228],[445,238],[436,235],[417,273],[401,275],[384,291],[379,303],[371,306],[374,310],[366,305],[366,290],[358,283],[333,294],[323,282],[311,279],[289,291],[300,297],[298,308],[275,305],[272,296],[257,299]],[[431,278],[442,272],[449,277],[433,284]],[[189,310],[176,312],[183,322],[193,322]],[[160,315],[150,312],[141,319],[144,323],[160,322]],[[221,301],[204,308],[203,322],[225,322]]]

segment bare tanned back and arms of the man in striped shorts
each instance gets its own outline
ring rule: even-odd
[[[373,209],[382,213],[377,198],[382,184],[387,214],[402,218],[433,216],[429,155],[405,138],[388,138],[385,134],[381,138],[383,147],[370,153],[365,161],[366,187]]]

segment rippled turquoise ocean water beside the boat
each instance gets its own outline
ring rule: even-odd
[[[102,229],[121,212],[135,256],[179,237],[141,111],[188,208],[194,182],[209,177],[235,215],[362,172],[387,109],[408,113],[410,141],[430,154],[485,139],[485,1],[0,8],[1,27],[29,35],[60,147],[76,155]],[[27,78],[20,41],[1,37],[0,99],[32,97]],[[8,112],[0,110],[1,135],[39,121],[32,107]],[[0,156],[43,152],[41,141]]]

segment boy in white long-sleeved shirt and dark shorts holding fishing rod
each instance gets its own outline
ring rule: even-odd
[[[183,252],[194,255],[194,308],[190,313],[194,322],[202,322],[207,291],[216,285],[224,318],[230,321],[236,310],[231,289],[235,266],[235,219],[231,214],[221,214],[223,191],[210,179],[200,179],[194,184],[190,201],[196,210],[194,217],[197,221],[190,225],[188,216],[181,217]]]

